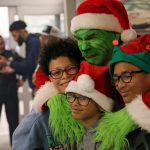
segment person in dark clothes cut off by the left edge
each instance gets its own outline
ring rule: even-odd
[[[13,50],[6,50],[2,36],[0,36],[0,59],[5,57],[7,60],[23,61]],[[6,73],[7,72],[7,73]],[[9,72],[9,73],[8,73]],[[16,72],[5,65],[0,65],[0,114],[2,105],[5,105],[6,117],[9,124],[10,141],[12,143],[12,134],[19,123],[19,101],[17,94]]]

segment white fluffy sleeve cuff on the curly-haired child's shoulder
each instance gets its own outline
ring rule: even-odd
[[[33,108],[37,112],[41,112],[42,106],[46,103],[46,101],[53,95],[57,94],[58,91],[55,88],[52,82],[46,82],[44,85],[40,87],[40,89],[36,92],[36,95],[33,99]]]

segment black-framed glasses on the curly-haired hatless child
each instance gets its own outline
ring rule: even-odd
[[[67,66],[64,69],[56,69],[56,70],[51,70],[49,72],[49,75],[53,79],[60,79],[63,76],[63,73],[66,72],[69,75],[74,75],[78,72],[78,67],[77,66]]]

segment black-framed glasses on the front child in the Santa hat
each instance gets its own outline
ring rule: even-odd
[[[77,97],[72,92],[68,92],[66,95],[67,95],[67,100],[70,103],[74,103],[75,100],[77,100],[78,104],[81,105],[81,106],[87,106],[89,104],[89,102],[91,101],[91,98],[88,98],[86,96],[78,96]]]

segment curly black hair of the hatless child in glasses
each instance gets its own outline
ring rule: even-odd
[[[49,74],[49,62],[57,59],[60,56],[68,57],[74,62],[77,67],[83,59],[82,54],[78,48],[76,41],[70,38],[60,39],[50,42],[41,50],[39,57],[39,65],[45,74]]]

